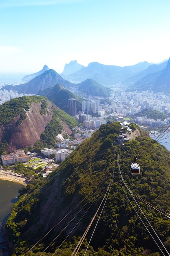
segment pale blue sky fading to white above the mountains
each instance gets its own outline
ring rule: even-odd
[[[0,0],[0,72],[170,57],[170,0]]]

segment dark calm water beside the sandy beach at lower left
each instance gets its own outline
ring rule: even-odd
[[[7,220],[13,204],[17,202],[18,190],[22,184],[8,180],[0,180],[0,241],[3,240],[1,228]],[[2,245],[0,245],[0,250]],[[0,256],[5,255],[0,252]]]

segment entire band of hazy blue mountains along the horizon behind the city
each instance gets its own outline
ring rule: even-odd
[[[43,72],[43,70],[45,71]],[[22,85],[7,85],[1,90],[13,90],[19,94],[38,94],[38,92],[60,83],[67,90],[81,94],[81,96],[83,94],[86,97],[104,98],[107,98],[110,93],[110,89],[106,88],[108,85],[113,85],[113,87],[121,85],[121,88],[125,86],[128,91],[170,91],[170,60],[159,64],[144,61],[126,67],[103,65],[97,62],[84,67],[77,61],[71,61],[65,65],[62,74],[58,74],[55,70],[49,70],[46,65],[43,70],[25,76],[22,80],[35,77]],[[68,74],[72,71],[72,74]]]

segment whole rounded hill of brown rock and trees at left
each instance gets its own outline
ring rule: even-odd
[[[19,97],[0,105],[0,154],[15,149],[55,147],[59,133],[71,135],[77,121],[40,96]],[[33,149],[33,148],[32,148]]]

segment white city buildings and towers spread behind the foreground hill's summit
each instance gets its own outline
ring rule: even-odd
[[[111,104],[100,103],[100,99],[82,101],[82,112],[77,113],[76,117],[79,122],[83,123],[86,128],[99,128],[106,123],[106,119],[117,117],[130,117],[143,110],[153,109],[168,115],[170,113],[170,95],[163,93],[144,92],[125,92],[120,87],[114,88],[115,92],[110,94],[109,100]],[[73,100],[73,99],[71,99]],[[74,99],[76,106],[76,100]],[[93,114],[97,114],[97,117]],[[149,119],[147,117],[137,117],[137,124],[147,125],[151,127],[159,127],[163,124],[170,124],[170,119],[163,121]]]

